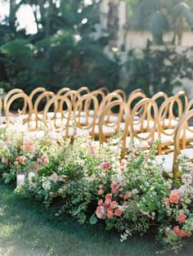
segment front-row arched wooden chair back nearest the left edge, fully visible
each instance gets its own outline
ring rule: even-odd
[[[16,112],[11,113],[11,110],[10,110],[11,105],[16,100],[23,100],[24,101],[24,105],[26,104],[25,110],[28,111],[27,113],[22,113],[22,112],[20,112],[20,113],[16,113]],[[18,117],[21,116],[22,121],[23,121],[22,123],[23,124],[26,124],[26,123],[29,124],[29,120],[31,118],[32,111],[33,111],[33,106],[32,106],[32,102],[31,102],[29,96],[27,96],[25,93],[16,93],[9,99],[9,101],[7,101],[7,105],[6,105],[6,109],[5,109],[5,115],[6,115],[7,122],[10,123],[10,124],[16,124],[16,123],[18,123]]]

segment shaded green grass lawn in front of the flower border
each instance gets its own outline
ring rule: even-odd
[[[101,225],[56,217],[55,209],[21,200],[12,190],[0,185],[0,256],[155,256],[160,249],[150,236],[120,243],[119,235]],[[192,252],[189,245],[178,255]]]

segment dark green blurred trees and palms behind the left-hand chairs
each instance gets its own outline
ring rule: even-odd
[[[119,65],[105,55],[106,38],[91,36],[99,22],[98,1],[9,0],[10,14],[0,24],[0,87],[115,87]],[[20,29],[16,13],[28,5],[36,34]],[[114,75],[111,75],[114,74]]]

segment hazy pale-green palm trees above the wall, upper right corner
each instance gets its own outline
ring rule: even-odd
[[[132,0],[134,9],[128,22],[132,29],[149,29],[153,43],[163,44],[164,33],[173,31],[171,43],[182,43],[182,33],[188,27],[193,30],[192,1],[186,0]]]

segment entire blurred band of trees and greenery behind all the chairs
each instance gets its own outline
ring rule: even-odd
[[[180,79],[193,79],[193,61],[187,54],[192,48],[178,54],[164,42],[164,34],[172,31],[169,45],[181,45],[183,31],[193,29],[192,0],[1,2],[9,7],[0,19],[0,88],[5,92],[11,88],[31,92],[45,87],[56,92],[61,87],[88,86],[94,90],[105,86],[112,90],[122,86],[127,92],[140,87],[150,95],[160,90],[172,93],[175,86],[182,85]],[[102,2],[111,4],[105,29],[101,26]],[[118,47],[113,41],[111,47],[119,29],[119,2],[125,2],[126,7],[123,37],[129,30],[149,30],[152,35],[140,58],[136,49],[127,49],[125,42]],[[20,27],[22,12],[20,16],[18,12],[26,6],[33,12],[35,33]],[[152,45],[166,47],[160,50]]]

